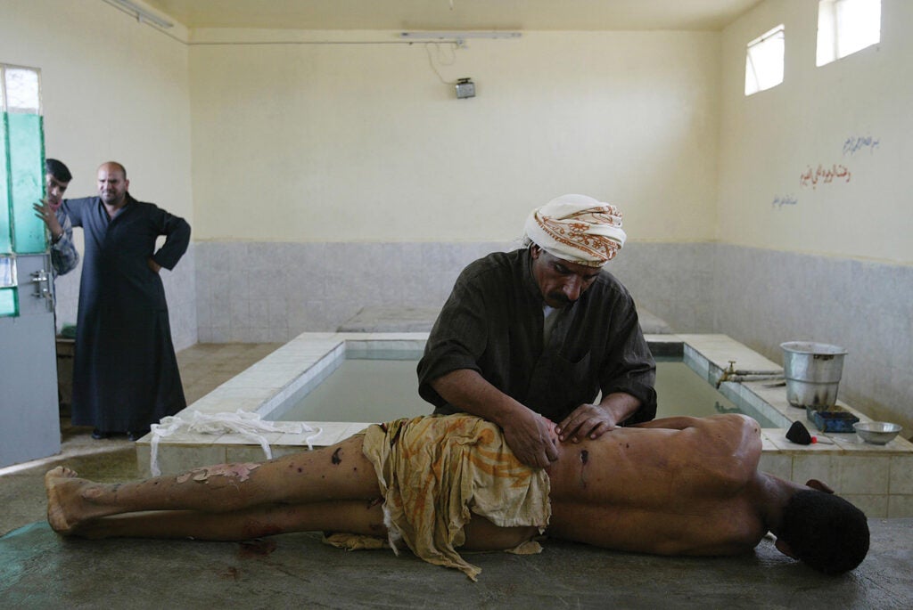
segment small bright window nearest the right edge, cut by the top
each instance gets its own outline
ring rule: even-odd
[[[821,0],[818,3],[818,66],[880,41],[881,0]]]

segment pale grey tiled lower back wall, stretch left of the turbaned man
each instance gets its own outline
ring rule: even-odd
[[[457,274],[510,243],[198,243],[201,341],[288,341],[364,306],[439,307]]]

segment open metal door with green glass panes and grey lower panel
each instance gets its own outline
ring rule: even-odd
[[[41,75],[0,64],[0,467],[60,450]]]

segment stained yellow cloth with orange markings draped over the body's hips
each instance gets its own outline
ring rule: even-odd
[[[456,547],[473,513],[502,527],[536,526],[551,517],[545,470],[522,464],[498,427],[456,414],[372,426],[363,452],[383,493],[390,543],[402,537],[429,563],[455,567],[472,580],[481,570]],[[529,552],[529,543],[525,543]],[[520,550],[524,552],[524,550]]]

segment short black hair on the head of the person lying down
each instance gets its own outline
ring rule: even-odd
[[[783,509],[779,537],[804,563],[824,574],[843,574],[868,553],[866,514],[839,496],[803,490]]]

